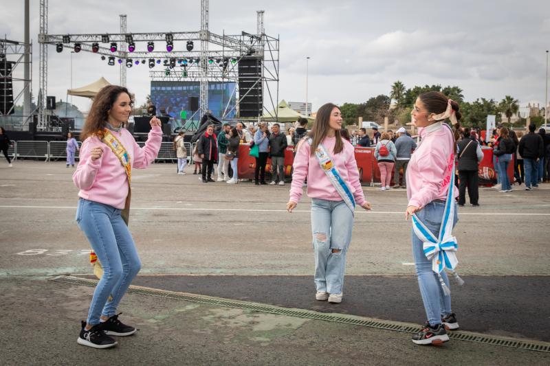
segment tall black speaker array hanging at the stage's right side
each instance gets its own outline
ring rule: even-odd
[[[262,61],[243,57],[239,61],[239,115],[259,117],[263,106]]]

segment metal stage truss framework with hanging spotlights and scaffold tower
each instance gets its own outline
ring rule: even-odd
[[[67,47],[98,54],[111,66],[118,62],[121,84],[126,83],[126,72],[132,67],[148,67],[152,81],[198,81],[201,115],[208,112],[208,82],[234,82],[238,84],[236,104],[230,107],[228,101],[221,119],[236,108],[237,118],[258,120],[264,112],[276,111],[278,104],[279,38],[265,34],[263,15],[263,10],[257,11],[256,34],[214,34],[208,30],[208,0],[201,0],[198,32],[126,33],[126,16],[121,15],[118,34],[47,34],[47,0],[41,0],[43,98],[47,90],[47,57],[43,54],[47,45],[55,45],[57,52]],[[47,128],[44,112],[42,108],[41,129]]]

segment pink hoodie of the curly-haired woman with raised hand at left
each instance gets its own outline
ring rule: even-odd
[[[126,148],[132,168],[137,169],[146,168],[155,160],[162,141],[162,130],[159,126],[151,129],[144,148],[137,145],[125,128],[122,128],[120,133],[113,132],[113,135]],[[90,151],[96,147],[102,148],[103,154],[99,159],[92,161]],[[126,171],[111,148],[98,137],[91,136],[83,142],[80,148],[80,162],[73,174],[73,181],[74,185],[80,188],[79,197],[124,209],[124,202],[128,196]]]

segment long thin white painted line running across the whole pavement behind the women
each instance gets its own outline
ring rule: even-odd
[[[14,206],[0,205],[0,208],[12,209],[76,209],[76,206]],[[286,212],[286,209],[215,209],[215,208],[190,208],[190,207],[132,207],[132,210],[152,210],[152,211],[237,211],[237,212]],[[307,210],[294,210],[292,212],[311,212]],[[405,215],[404,211],[355,211],[355,214],[369,215]],[[542,213],[523,213],[523,212],[461,212],[459,216],[550,216]]]

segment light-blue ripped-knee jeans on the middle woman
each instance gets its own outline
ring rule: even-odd
[[[353,212],[344,201],[311,198],[311,231],[318,291],[342,293]]]

